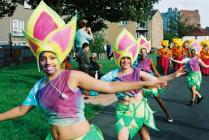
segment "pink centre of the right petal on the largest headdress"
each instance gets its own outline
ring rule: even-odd
[[[52,42],[52,41],[56,42],[57,44],[61,46],[62,52],[65,52],[65,50],[68,47],[71,36],[72,36],[71,28],[66,28],[54,34],[49,39],[49,42]]]

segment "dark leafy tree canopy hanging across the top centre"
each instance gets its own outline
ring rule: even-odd
[[[79,20],[88,21],[93,31],[106,27],[105,21],[147,20],[153,4],[159,0],[44,0],[59,15],[69,21],[78,12]],[[40,0],[28,0],[35,8]]]

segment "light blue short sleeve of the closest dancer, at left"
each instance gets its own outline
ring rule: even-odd
[[[43,79],[36,82],[36,84],[33,86],[33,88],[30,90],[28,96],[26,97],[25,101],[22,103],[22,105],[26,106],[38,106],[37,100],[36,100],[36,93],[40,89],[41,85],[43,85]]]

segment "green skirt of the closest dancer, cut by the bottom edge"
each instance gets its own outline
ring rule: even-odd
[[[91,125],[90,131],[86,135],[76,138],[75,140],[94,140],[94,139],[104,140],[104,137],[101,130],[97,126]],[[45,140],[53,140],[51,133],[49,133],[46,136]]]

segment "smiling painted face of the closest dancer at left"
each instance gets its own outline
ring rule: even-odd
[[[41,70],[47,75],[54,75],[60,70],[57,56],[52,52],[43,52],[39,57],[39,65]]]

